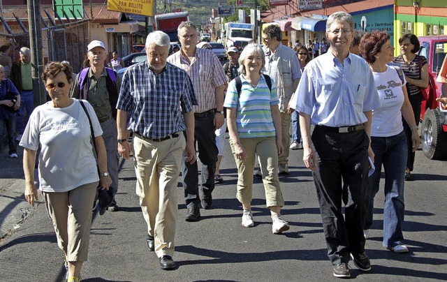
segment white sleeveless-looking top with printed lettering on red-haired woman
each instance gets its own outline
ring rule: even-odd
[[[404,130],[402,126],[402,113],[404,103],[404,85],[394,66],[387,66],[383,73],[375,73],[374,82],[379,92],[381,107],[372,111],[371,136],[389,137],[397,135]]]

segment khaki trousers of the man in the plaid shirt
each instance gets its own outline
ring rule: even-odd
[[[154,236],[155,252],[174,255],[175,224],[177,221],[177,182],[182,168],[184,135],[161,142],[135,135],[133,138],[135,193],[140,197],[147,233]]]

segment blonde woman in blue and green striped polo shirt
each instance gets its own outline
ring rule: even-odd
[[[240,80],[228,84],[223,106],[227,108],[231,151],[237,165],[237,200],[242,203],[242,226],[254,226],[251,214],[253,170],[258,154],[265,188],[265,200],[272,216],[272,232],[280,234],[289,226],[280,216],[284,198],[278,178],[281,142],[281,116],[277,87],[261,75],[265,54],[261,45],[249,44],[239,58]],[[236,82],[238,81],[238,82]],[[237,83],[239,86],[237,86]],[[271,85],[273,84],[273,85]]]

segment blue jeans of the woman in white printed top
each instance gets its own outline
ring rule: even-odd
[[[404,235],[404,175],[408,147],[404,131],[389,137],[372,137],[376,170],[369,177],[369,209],[365,219],[365,229],[372,225],[374,196],[379,192],[381,169],[385,170],[385,205],[383,209],[383,246],[393,248],[403,244]]]

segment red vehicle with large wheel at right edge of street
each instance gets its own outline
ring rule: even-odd
[[[420,36],[419,54],[427,58],[430,92],[420,106],[420,137],[422,150],[433,160],[447,158],[447,112],[439,108],[436,98],[441,96],[441,84],[436,82],[447,52],[447,36]]]

